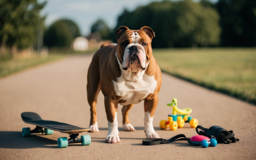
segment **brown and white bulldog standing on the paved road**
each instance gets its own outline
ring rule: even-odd
[[[144,100],[147,139],[159,138],[153,128],[153,116],[161,88],[162,74],[152,54],[155,37],[150,27],[130,30],[125,26],[116,31],[117,45],[101,47],[94,55],[87,75],[87,100],[90,105],[91,132],[99,132],[96,103],[100,90],[104,95],[108,120],[107,143],[118,143],[118,103],[123,105],[124,131],[135,131],[128,113],[133,104]]]

